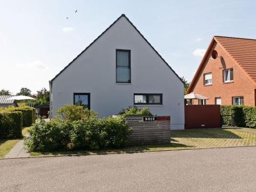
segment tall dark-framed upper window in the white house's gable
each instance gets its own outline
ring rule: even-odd
[[[116,82],[131,83],[130,50],[116,50]]]

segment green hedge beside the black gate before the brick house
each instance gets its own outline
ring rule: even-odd
[[[233,115],[237,126],[256,128],[255,106],[221,105],[221,115]],[[231,124],[231,118],[223,117],[223,124]]]

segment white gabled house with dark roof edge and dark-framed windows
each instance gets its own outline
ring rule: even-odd
[[[99,117],[148,106],[184,129],[184,85],[130,20],[122,14],[50,82],[50,115],[80,103]]]

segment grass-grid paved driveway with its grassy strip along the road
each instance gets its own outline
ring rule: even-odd
[[[31,156],[37,155],[63,155],[63,154],[91,154],[91,153],[122,153],[154,150],[181,150],[188,148],[207,148],[224,146],[256,145],[256,134],[236,129],[196,129],[171,131],[169,144],[129,146],[118,150],[79,150],[59,151],[50,153],[31,152]]]

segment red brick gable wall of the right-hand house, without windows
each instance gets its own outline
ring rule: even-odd
[[[221,97],[222,105],[231,105],[233,96],[243,96],[245,105],[255,106],[253,82],[217,42],[212,46],[210,53],[212,50],[217,50],[218,56],[222,56],[223,59],[220,57],[215,60],[209,59],[210,54],[208,55],[191,92],[208,97],[206,104],[215,104],[215,98]],[[223,69],[229,68],[233,68],[233,82],[223,83]],[[204,86],[204,74],[210,72],[212,73],[212,85]]]

